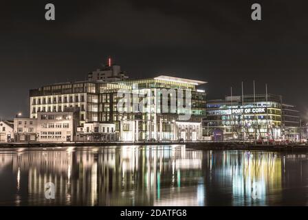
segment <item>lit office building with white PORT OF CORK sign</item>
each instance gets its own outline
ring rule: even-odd
[[[225,100],[208,100],[206,109],[203,135],[214,140],[296,140],[296,133],[289,131],[298,127],[298,111],[283,104],[281,96],[227,96]]]

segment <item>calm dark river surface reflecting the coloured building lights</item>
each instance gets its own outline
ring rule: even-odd
[[[45,198],[45,183],[56,186]],[[0,206],[307,206],[308,155],[185,146],[0,150]]]

